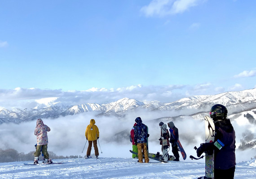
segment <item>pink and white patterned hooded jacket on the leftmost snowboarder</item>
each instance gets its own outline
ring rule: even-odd
[[[44,125],[42,119],[37,119],[35,132],[36,135],[36,144],[37,145],[45,145],[48,144],[48,136],[47,132],[51,131],[50,127]]]

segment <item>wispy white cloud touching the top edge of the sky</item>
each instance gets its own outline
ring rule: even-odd
[[[141,12],[147,17],[183,13],[203,1],[204,0],[152,0],[150,4],[141,8]]]

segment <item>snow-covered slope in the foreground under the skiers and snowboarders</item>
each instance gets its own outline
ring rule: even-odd
[[[137,159],[113,157],[54,160],[60,161],[63,164],[0,163],[0,179],[197,179],[204,176],[204,163],[193,161],[138,163]],[[256,179],[256,159],[238,163],[235,179]]]

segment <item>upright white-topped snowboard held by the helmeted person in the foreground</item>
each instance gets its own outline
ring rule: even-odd
[[[205,143],[214,141],[215,126],[212,118],[204,117],[205,120]],[[205,176],[214,179],[214,150],[212,153],[205,153]]]

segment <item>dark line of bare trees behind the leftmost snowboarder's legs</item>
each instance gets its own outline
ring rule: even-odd
[[[19,161],[34,161],[34,153],[35,151],[29,153],[18,153],[17,150],[13,148],[9,148],[6,150],[2,150],[0,148],[0,163],[2,162],[19,162]],[[82,158],[82,156],[71,155],[71,156],[57,156],[55,153],[48,151],[50,158],[54,159],[62,159],[62,158]]]

